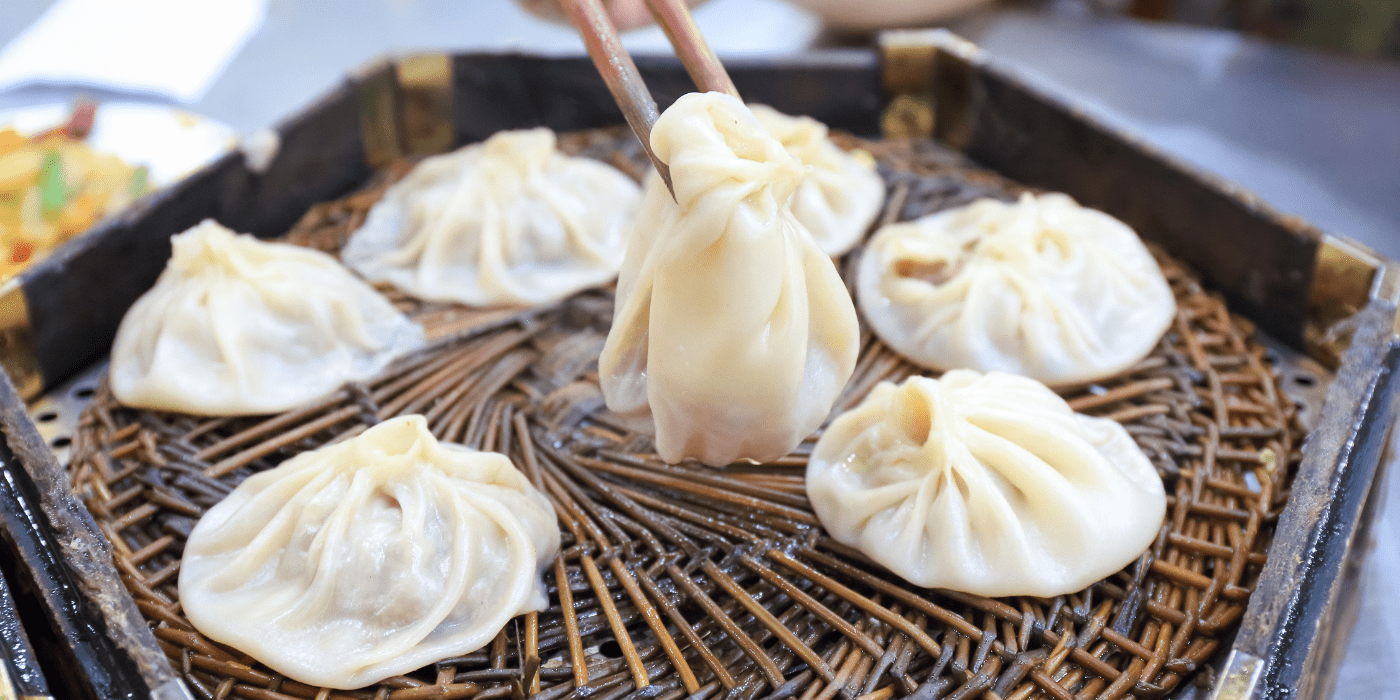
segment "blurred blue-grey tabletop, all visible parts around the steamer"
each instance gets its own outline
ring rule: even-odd
[[[0,1],[0,45],[50,0]],[[190,111],[242,134],[273,126],[357,66],[409,50],[580,55],[573,31],[511,0],[269,0],[267,17]],[[823,41],[820,22],[780,0],[713,0],[696,21],[721,56],[788,55]],[[955,22],[997,62],[1105,122],[1252,189],[1275,209],[1400,259],[1400,64],[1268,45],[1236,34],[1088,17],[1068,1]],[[661,31],[624,36],[669,53]],[[92,91],[88,91],[92,92]],[[67,101],[69,88],[0,92],[0,109]],[[99,98],[130,98],[105,95]],[[1400,479],[1376,524],[1362,610],[1334,697],[1400,697]]]

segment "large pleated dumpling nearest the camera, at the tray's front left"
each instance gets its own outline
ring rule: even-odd
[[[190,533],[179,598],[288,678],[361,687],[543,610],[557,553],[553,507],[510,459],[402,416],[244,480]]]

